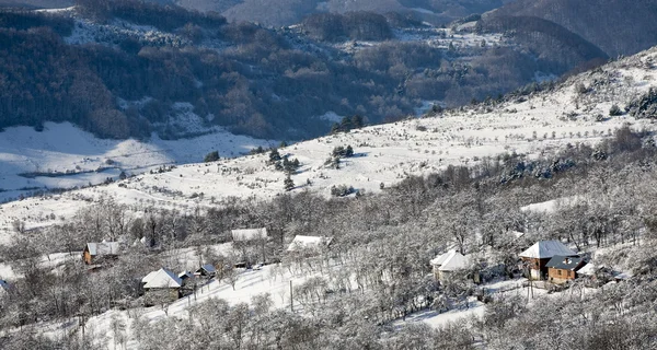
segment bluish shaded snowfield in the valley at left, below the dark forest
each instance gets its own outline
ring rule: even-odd
[[[97,185],[107,177],[140,174],[165,164],[203,161],[218,151],[234,158],[274,141],[235,136],[221,129],[205,136],[148,141],[103,140],[71,124],[46,122],[44,130],[8,128],[0,132],[0,201],[32,190]]]

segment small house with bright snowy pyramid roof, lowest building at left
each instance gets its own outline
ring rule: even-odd
[[[146,305],[169,303],[181,296],[183,280],[169,269],[161,268],[141,279]]]

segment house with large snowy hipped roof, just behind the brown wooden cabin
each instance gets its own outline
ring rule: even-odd
[[[519,254],[528,275],[534,280],[544,280],[548,276],[548,262],[554,256],[576,257],[577,253],[570,250],[558,241],[539,241],[527,250]]]

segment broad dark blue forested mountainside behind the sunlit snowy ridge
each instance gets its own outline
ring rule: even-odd
[[[427,101],[497,96],[595,56],[558,46],[561,38],[535,52],[512,39],[486,45],[492,36],[457,33],[454,42],[450,30],[416,23],[349,12],[269,30],[128,0],[3,11],[0,127],[72,121],[104,138],[180,138],[199,132],[176,121],[184,103],[207,130],[298,140],[326,133],[334,121],[321,118],[326,113],[394,120]],[[549,57],[555,46],[566,52]]]

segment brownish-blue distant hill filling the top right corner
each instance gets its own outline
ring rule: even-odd
[[[632,55],[657,44],[657,0],[518,0],[487,16],[549,20],[611,57]]]

